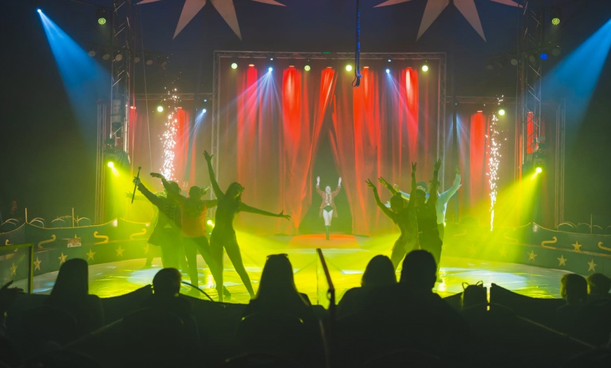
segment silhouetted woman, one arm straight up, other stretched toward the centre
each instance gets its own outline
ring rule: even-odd
[[[212,230],[212,235],[210,237],[212,256],[214,261],[216,261],[216,264],[219,265],[217,275],[214,277],[216,280],[216,289],[219,291],[218,299],[219,301],[223,301],[223,293],[221,293],[220,289],[223,285],[223,248],[225,251],[227,251],[227,256],[229,257],[231,263],[233,263],[235,271],[239,275],[239,278],[244,283],[244,286],[252,298],[254,296],[254,290],[252,288],[248,273],[244,268],[242,254],[239,252],[237,237],[235,237],[235,230],[233,228],[235,216],[239,212],[250,212],[263,216],[282,217],[286,218],[287,220],[290,220],[291,216],[285,215],[284,211],[281,211],[280,213],[271,213],[242,203],[242,192],[244,191],[244,187],[242,187],[242,185],[239,183],[231,183],[227,190],[223,193],[223,191],[221,191],[221,187],[218,186],[216,181],[214,169],[212,169],[212,155],[210,155],[207,151],[204,151],[204,157],[206,158],[206,162],[208,162],[208,173],[210,176],[210,182],[212,184],[212,190],[218,199],[214,229]]]

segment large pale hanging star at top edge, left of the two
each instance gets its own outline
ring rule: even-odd
[[[150,4],[155,3],[161,0],[143,0],[138,3],[140,4]],[[284,4],[280,4],[275,0],[251,0],[257,3],[269,4],[269,5],[277,5],[277,6],[285,6]],[[233,6],[233,0],[210,0],[212,6],[216,8],[225,23],[232,29],[233,33],[239,38],[242,39],[242,34],[239,32],[239,24],[237,22],[237,15],[235,14],[235,7]],[[180,31],[185,28],[189,22],[195,15],[199,13],[199,11],[204,8],[206,5],[206,0],[185,0],[185,5],[183,5],[183,11],[180,12],[180,18],[178,19],[178,25],[176,25],[176,31],[174,31],[173,39],[178,36]]]

